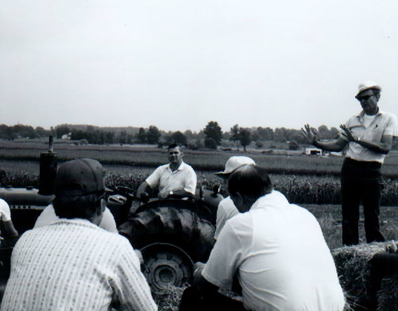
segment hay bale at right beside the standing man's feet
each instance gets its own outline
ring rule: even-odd
[[[370,259],[376,253],[386,252],[391,242],[373,242],[353,246],[343,246],[332,250],[340,284],[346,294],[346,301],[350,308],[369,307],[370,295]],[[397,278],[395,278],[397,279]],[[397,304],[397,280],[384,279],[378,292],[378,310],[386,309],[385,305]],[[393,300],[392,300],[393,299]]]

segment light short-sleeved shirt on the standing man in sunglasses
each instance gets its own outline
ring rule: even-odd
[[[352,116],[345,124],[350,129],[354,137],[380,143],[383,135],[398,136],[397,117],[389,112],[379,109],[374,119],[367,124],[365,120],[365,112],[362,110],[360,114]],[[347,140],[343,134],[340,137]],[[385,154],[374,152],[357,143],[349,142],[344,150],[345,156],[357,161],[377,161],[384,162]]]

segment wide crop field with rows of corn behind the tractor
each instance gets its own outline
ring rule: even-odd
[[[54,150],[58,162],[76,157],[92,157],[104,164],[107,172],[105,183],[113,188],[124,185],[134,190],[153,171],[167,162],[167,150],[153,146],[75,146],[56,143]],[[14,187],[38,186],[39,155],[47,151],[47,142],[0,141],[0,170],[5,176],[1,184]],[[286,153],[283,155],[283,153]],[[246,155],[258,165],[267,167],[274,187],[284,193],[290,202],[308,209],[318,220],[330,249],[341,244],[341,207],[339,171],[342,157],[304,156],[299,152],[281,152],[268,155],[260,152],[185,150],[184,161],[192,164],[198,175],[198,185],[211,189],[220,184],[214,175],[223,169],[228,157]],[[381,231],[387,240],[398,240],[398,154],[391,153],[384,165],[385,190],[380,214]],[[388,205],[388,206],[387,206]],[[361,213],[363,215],[363,213]],[[360,219],[360,242],[365,243],[364,220]],[[182,289],[155,293],[160,311],[177,311]]]

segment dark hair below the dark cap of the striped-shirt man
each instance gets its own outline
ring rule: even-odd
[[[70,195],[62,193],[57,195],[53,200],[55,215],[59,218],[82,218],[88,219],[93,216],[100,215],[100,200],[104,197],[104,191],[79,194],[79,190],[72,190]]]

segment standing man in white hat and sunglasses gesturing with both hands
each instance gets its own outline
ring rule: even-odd
[[[359,204],[365,214],[367,242],[384,241],[379,212],[383,179],[381,167],[397,136],[397,117],[378,107],[382,88],[373,81],[359,84],[355,98],[362,111],[340,125],[341,134],[332,142],[316,140],[316,131],[308,124],[302,134],[313,146],[327,151],[344,151],[341,169],[343,244],[358,244]]]

